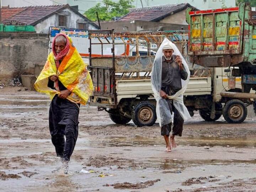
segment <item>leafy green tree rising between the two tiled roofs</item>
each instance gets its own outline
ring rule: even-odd
[[[98,12],[100,21],[112,20],[113,17],[126,15],[129,12],[128,9],[134,7],[132,2],[133,0],[119,0],[118,2],[103,0],[103,5],[101,3],[96,4],[88,9],[84,15],[91,21],[97,21],[96,12]]]

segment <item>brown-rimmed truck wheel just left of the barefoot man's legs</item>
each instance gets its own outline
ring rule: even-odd
[[[133,123],[138,127],[152,126],[156,121],[156,109],[148,101],[141,101],[134,106]]]

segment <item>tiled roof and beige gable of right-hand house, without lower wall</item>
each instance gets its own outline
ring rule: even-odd
[[[160,23],[173,23],[187,25],[186,9],[192,7],[188,3],[152,6],[130,9],[130,12],[118,21],[154,21]]]

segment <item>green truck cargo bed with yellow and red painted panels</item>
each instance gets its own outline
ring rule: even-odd
[[[188,8],[188,55],[203,66],[256,65],[256,12],[249,4],[193,11]]]

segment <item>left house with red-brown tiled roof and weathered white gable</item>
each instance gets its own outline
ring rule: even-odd
[[[2,7],[5,25],[32,25],[37,33],[48,33],[50,26],[95,30],[98,26],[80,14],[77,7],[66,5]]]

